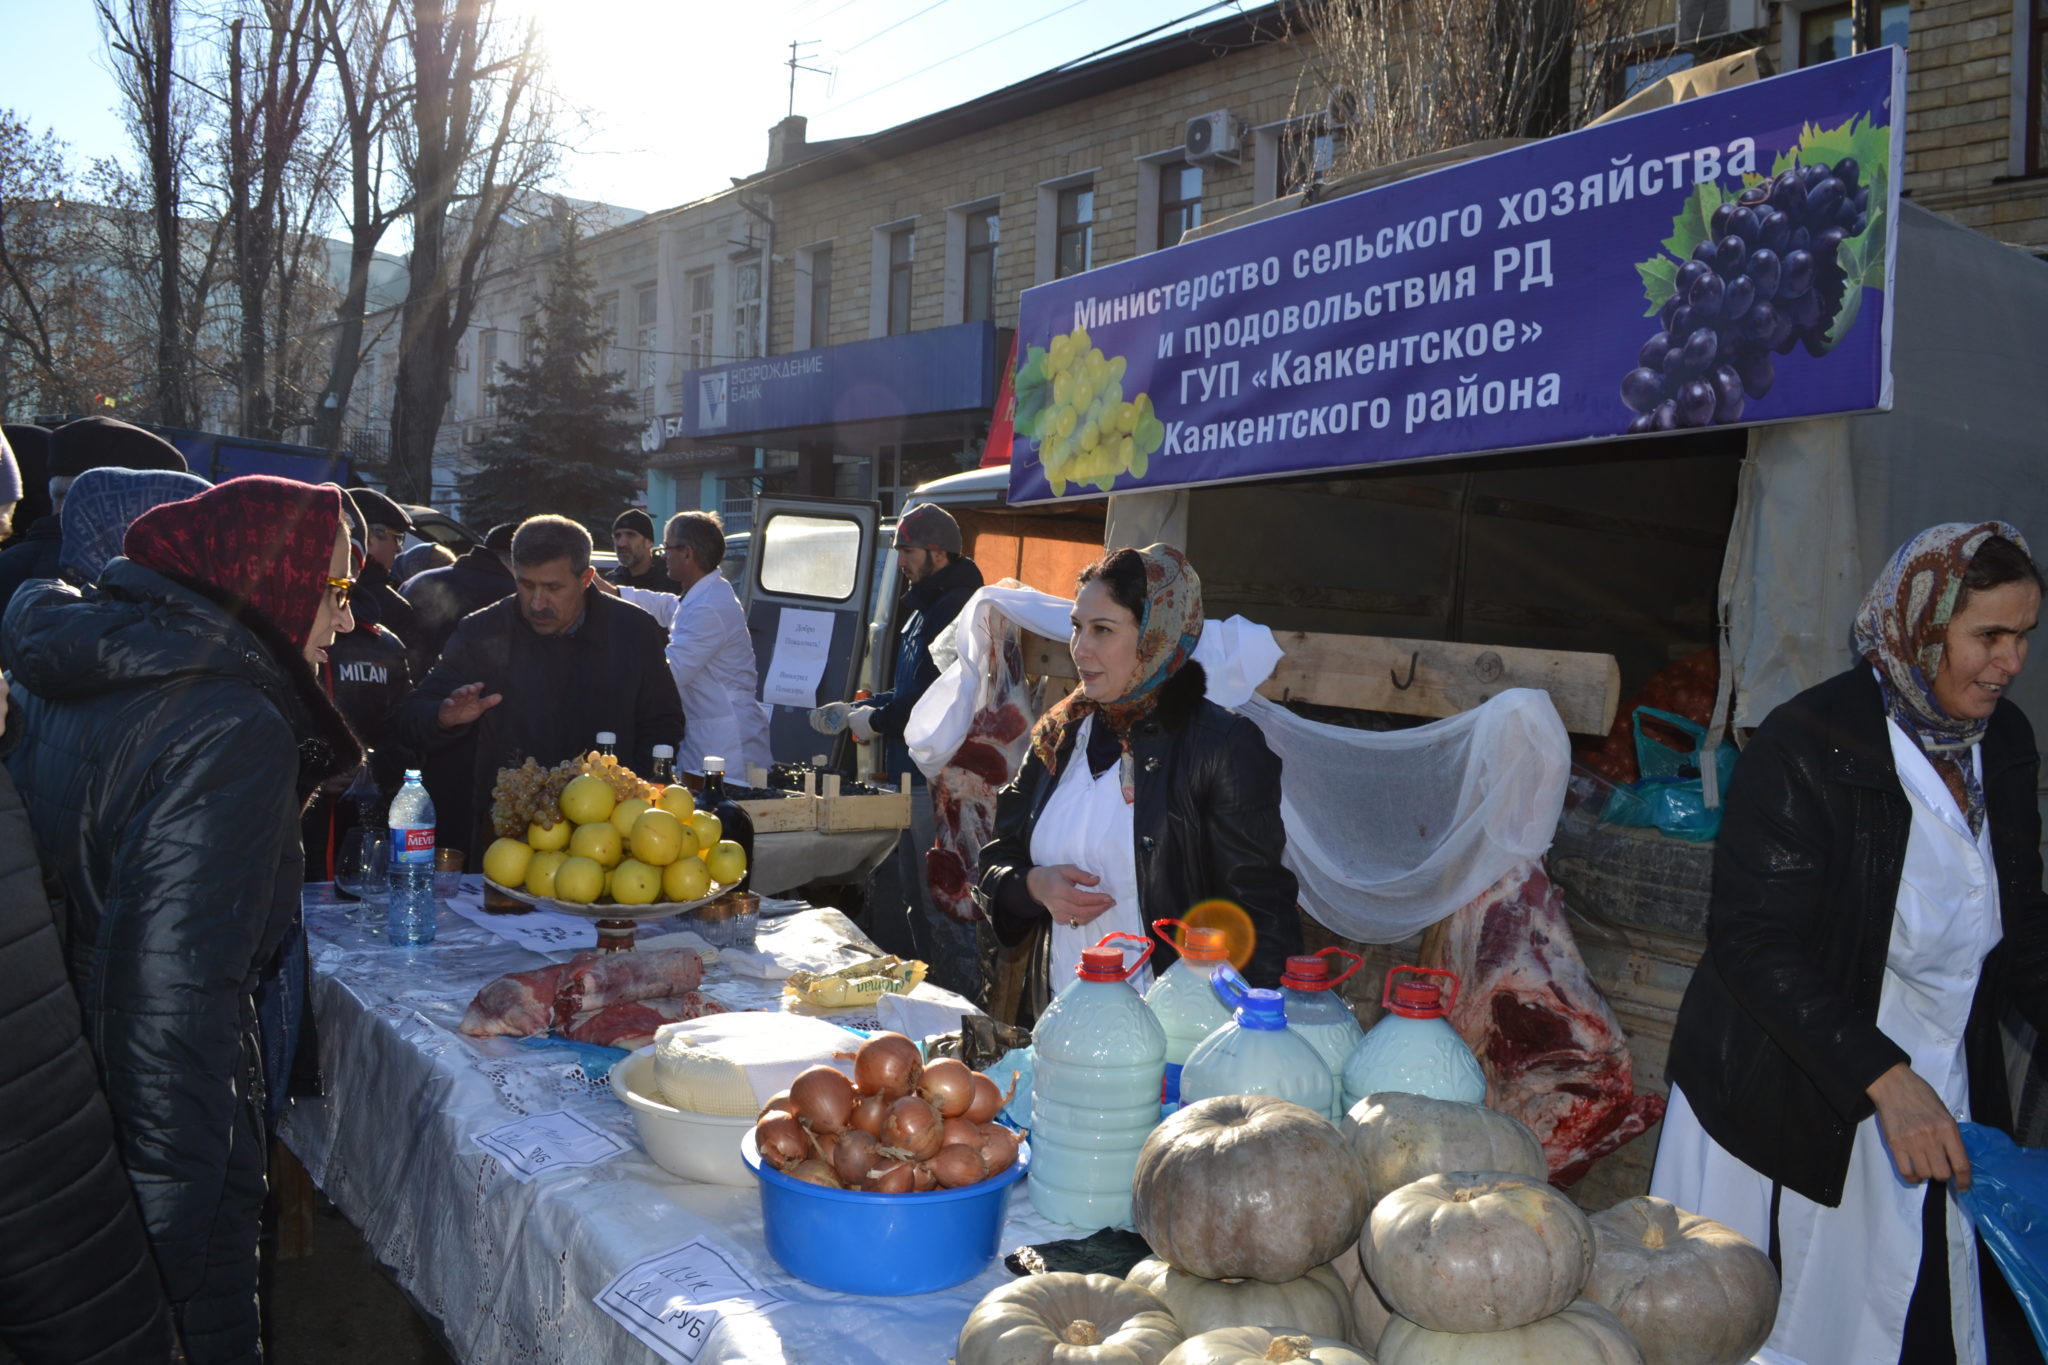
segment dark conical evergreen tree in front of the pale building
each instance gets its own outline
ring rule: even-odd
[[[559,225],[539,332],[522,338],[524,360],[500,364],[489,385],[498,426],[463,479],[463,514],[494,526],[553,512],[610,544],[612,518],[641,479],[637,403],[616,372],[600,368],[610,338],[598,327],[575,225],[567,215]]]

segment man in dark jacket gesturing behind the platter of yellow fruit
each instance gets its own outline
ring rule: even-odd
[[[668,630],[590,583],[590,532],[537,516],[512,536],[512,598],[473,612],[399,710],[399,739],[426,755],[438,847],[471,864],[492,841],[500,767],[551,767],[618,737],[618,761],[653,767],[653,747],[682,739],[668,671]]]

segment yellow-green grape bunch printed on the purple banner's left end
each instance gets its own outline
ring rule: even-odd
[[[1151,454],[1165,442],[1151,395],[1124,399],[1122,356],[1104,356],[1085,327],[1032,346],[1018,370],[1016,428],[1038,442],[1053,495],[1069,483],[1104,493],[1116,477],[1145,477]]]

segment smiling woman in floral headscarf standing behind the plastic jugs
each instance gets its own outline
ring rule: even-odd
[[[1251,917],[1251,984],[1276,986],[1300,952],[1280,759],[1204,696],[1190,659],[1200,634],[1202,579],[1174,546],[1112,551],[1081,571],[1069,639],[1081,686],[1032,731],[975,886],[1004,943],[1036,941],[1028,1017],[1104,933],[1149,935],[1149,921],[1202,900]],[[1161,943],[1151,972],[1171,962]]]

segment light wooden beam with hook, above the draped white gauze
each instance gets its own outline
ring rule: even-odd
[[[1507,688],[1536,688],[1550,694],[1567,731],[1606,735],[1622,700],[1614,655],[1311,630],[1276,630],[1274,639],[1282,657],[1260,696],[1276,702],[1442,718]],[[1067,643],[1026,632],[1024,671],[1073,677]]]

